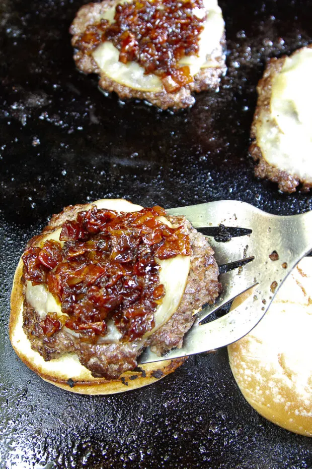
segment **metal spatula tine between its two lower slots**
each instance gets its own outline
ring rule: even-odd
[[[214,305],[207,306],[196,315],[198,322],[203,321],[214,311],[217,311],[223,305],[226,305],[226,303],[257,283],[257,279],[254,278],[255,269],[252,264],[253,261],[245,265],[242,269],[234,269],[220,275],[220,281],[222,283],[221,295]]]

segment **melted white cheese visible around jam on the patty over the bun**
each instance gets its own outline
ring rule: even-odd
[[[116,210],[117,212],[135,212],[143,208],[140,205],[135,205],[122,199],[102,199],[94,202],[93,205],[96,205],[98,208]],[[91,208],[91,204],[88,208]],[[167,218],[160,217],[160,219],[168,226],[172,226]],[[60,232],[61,229],[55,230],[46,236],[44,241],[48,239],[59,241]],[[164,284],[166,295],[154,314],[154,328],[146,333],[144,338],[165,324],[178,309],[187,283],[191,259],[190,256],[179,255],[172,259],[157,260],[157,262],[161,266],[160,283]],[[26,284],[26,299],[42,319],[45,318],[47,313],[55,312],[59,316],[63,314],[59,301],[53,297],[45,285],[32,285],[28,281]],[[118,342],[121,334],[114,325],[114,322],[109,321],[107,325],[107,334],[99,339],[99,343]],[[76,332],[66,327],[64,329],[68,333],[79,337],[79,334]]]

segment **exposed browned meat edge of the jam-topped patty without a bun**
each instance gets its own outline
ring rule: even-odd
[[[216,4],[214,0],[213,3]],[[95,40],[94,34],[96,33],[93,29],[96,30],[97,27],[95,25],[99,24],[107,10],[116,7],[118,4],[119,0],[104,0],[98,4],[91,3],[85,5],[77,12],[70,27],[70,33],[73,36],[71,43],[76,50],[74,61],[79,70],[86,74],[96,73],[100,75],[99,85],[104,91],[114,91],[122,99],[143,99],[162,109],[190,107],[195,103],[192,92],[218,89],[220,77],[226,71],[225,56],[223,54],[225,46],[224,28],[217,38],[215,47],[206,55],[206,61],[209,62],[209,66],[201,68],[194,76],[189,77],[188,83],[185,83],[183,86],[173,87],[172,82],[170,82],[172,89],[170,86],[162,86],[158,91],[149,91],[144,90],[144,88],[135,89],[110,77],[108,71],[101,69],[94,59],[93,51],[96,49],[96,46],[92,45],[92,41]],[[215,12],[213,11],[212,14],[215,14]],[[219,16],[221,17],[221,14]],[[173,34],[170,28],[168,29],[168,34]],[[167,79],[164,83],[166,82],[168,85]]]

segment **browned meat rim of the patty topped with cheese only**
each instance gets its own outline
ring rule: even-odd
[[[297,53],[297,52],[295,52]],[[262,125],[262,119],[267,118],[270,120],[270,101],[272,94],[272,83],[274,77],[280,73],[284,65],[286,56],[280,58],[271,58],[264,71],[263,77],[258,83],[258,101],[254,114],[254,120],[251,127],[251,138],[253,142],[249,147],[249,153],[258,164],[255,166],[255,175],[261,179],[268,179],[273,183],[278,184],[278,189],[281,192],[295,192],[297,186],[301,183],[301,191],[308,191],[312,184],[305,181],[300,181],[296,175],[289,174],[276,166],[267,162],[264,158],[261,148],[257,142],[258,128]],[[272,123],[274,125],[274,123]]]

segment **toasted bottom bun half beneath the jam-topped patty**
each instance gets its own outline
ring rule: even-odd
[[[85,206],[80,207],[85,208]],[[56,217],[55,224],[59,218],[59,216]],[[24,286],[22,275],[23,261],[20,259],[11,294],[10,340],[25,365],[45,381],[80,394],[114,394],[152,384],[175,371],[187,359],[181,358],[140,365],[136,371],[125,372],[116,380],[94,378],[74,354],[66,354],[58,359],[45,362],[43,357],[31,348],[31,343],[23,330]]]

